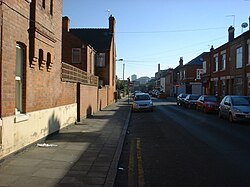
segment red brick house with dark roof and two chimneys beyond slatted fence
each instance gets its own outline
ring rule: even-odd
[[[62,41],[62,61],[98,76],[111,104],[116,90],[115,18],[109,17],[109,28],[70,29],[69,18],[63,17]]]

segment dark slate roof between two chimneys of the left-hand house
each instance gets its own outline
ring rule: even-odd
[[[110,50],[112,33],[109,29],[69,29],[70,33],[90,44],[97,52]]]

